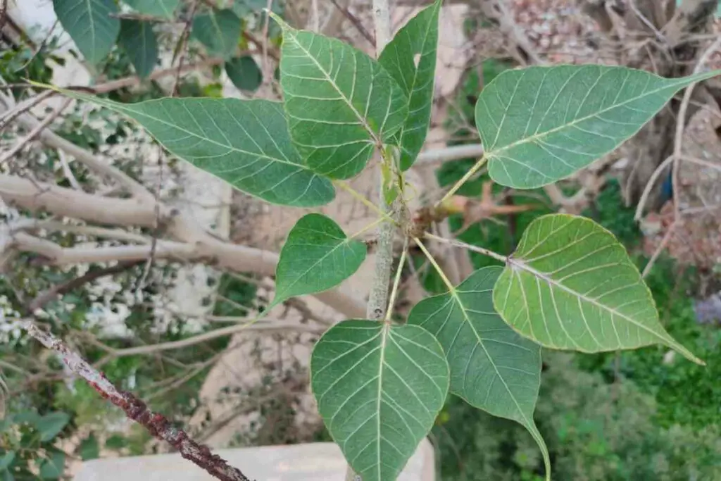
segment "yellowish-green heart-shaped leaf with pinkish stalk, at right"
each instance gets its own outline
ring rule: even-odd
[[[533,221],[498,278],[493,303],[513,329],[548,348],[598,353],[661,343],[703,363],[663,329],[624,247],[585,217]]]

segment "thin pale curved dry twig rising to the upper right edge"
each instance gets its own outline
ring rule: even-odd
[[[706,63],[711,58],[712,54],[721,48],[721,37],[718,37],[714,43],[709,45],[709,47],[704,50],[704,53],[701,54],[699,57],[699,61],[696,63],[696,66],[694,67],[693,74],[699,74],[699,72],[704,68]],[[678,107],[678,115],[676,118],[678,118],[676,122],[676,136],[673,138],[673,155],[671,156],[671,159],[673,162],[673,165],[671,166],[671,185],[675,185],[676,189],[678,190],[678,187],[681,186],[678,178],[678,172],[681,168],[681,159],[682,159],[682,153],[681,150],[684,146],[684,129],[686,128],[686,110],[689,110],[689,102],[691,101],[691,94],[694,93],[694,87],[696,87],[696,82],[693,84],[690,84],[689,87],[686,87],[686,92],[684,92],[684,99],[681,100],[681,106]],[[664,161],[665,163],[665,161]],[[659,166],[660,167],[660,166]],[[657,169],[658,170],[658,169]],[[655,174],[655,172],[654,172]],[[650,182],[650,181],[649,181]],[[638,215],[638,211],[637,211]],[[650,273],[651,268],[653,267],[654,263],[658,259],[658,256],[666,247],[666,244],[671,240],[671,236],[673,235],[673,231],[678,229],[681,223],[681,206],[678,202],[678,193],[673,196],[673,224],[671,224],[671,227],[668,228],[668,231],[666,231],[663,239],[661,240],[660,244],[658,244],[658,247],[656,247],[655,252],[653,252],[653,255],[651,256],[650,260],[646,264],[645,268],[643,269],[642,276],[645,277],[648,273]]]

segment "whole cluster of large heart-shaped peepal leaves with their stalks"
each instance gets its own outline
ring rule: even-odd
[[[542,216],[505,257],[435,237],[420,216],[407,213],[404,172],[430,122],[440,9],[437,0],[418,13],[377,60],[274,17],[283,32],[283,102],[122,104],[65,93],[127,115],[174,156],[282,206],[327,204],[337,187],[350,189],[344,180],[379,162],[393,208],[377,208],[379,219],[366,229],[392,223],[405,247],[384,320],[345,320],[314,348],[311,388],[329,433],[363,480],[395,480],[450,392],[523,425],[541,449],[549,480],[549,454],[534,423],[541,347],[598,353],[662,344],[702,361],[664,330],[624,247],[590,219]],[[597,65],[505,71],[476,105],[484,156],[427,208],[443,211],[485,164],[492,180],[516,189],[568,177],[633,136],[679,89],[717,74],[664,79]],[[301,218],[280,252],[272,304],[353,275],[367,251],[358,234],[319,213]],[[505,267],[479,269],[454,286],[423,239],[482,252]],[[420,301],[397,323],[391,313],[409,244],[425,252],[448,291]]]

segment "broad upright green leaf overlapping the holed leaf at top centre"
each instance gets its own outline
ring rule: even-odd
[[[390,74],[361,50],[281,26],[280,87],[293,143],[315,172],[353,177],[376,147],[395,142],[408,100]]]

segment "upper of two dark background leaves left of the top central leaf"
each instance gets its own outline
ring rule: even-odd
[[[231,9],[198,15],[193,19],[193,36],[214,57],[231,58],[240,38],[242,20]]]

